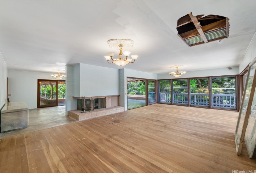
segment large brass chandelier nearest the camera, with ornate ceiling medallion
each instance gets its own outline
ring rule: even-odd
[[[114,42],[114,43],[113,43]],[[128,42],[128,43],[127,43]],[[128,47],[132,47],[133,46],[133,41],[129,40],[129,39],[123,39],[123,40],[118,40],[118,39],[112,39],[112,40],[108,40],[108,44],[110,47],[115,47],[115,43],[118,43],[118,46],[120,47],[120,52],[118,55],[118,59],[113,59],[115,52],[108,52],[108,56],[105,56],[107,62],[109,64],[113,63],[115,65],[119,65],[119,66],[123,66],[123,65],[129,65],[129,63],[133,63],[136,61],[138,55],[131,55],[131,58],[128,58],[128,56],[130,55],[131,52],[128,51],[124,51],[122,52],[122,47],[124,46],[124,44],[127,44],[126,46]],[[123,43],[123,44],[120,44]],[[123,57],[122,57],[123,55]],[[112,62],[109,62],[110,59],[112,60]],[[132,61],[133,60],[133,61]]]

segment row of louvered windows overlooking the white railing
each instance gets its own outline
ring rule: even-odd
[[[236,76],[158,80],[157,84],[158,103],[237,108]]]

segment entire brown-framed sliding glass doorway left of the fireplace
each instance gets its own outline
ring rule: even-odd
[[[38,79],[37,108],[65,105],[65,81]]]

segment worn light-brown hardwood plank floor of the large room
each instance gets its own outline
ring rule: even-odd
[[[230,172],[238,112],[153,104],[1,139],[1,172]]]

